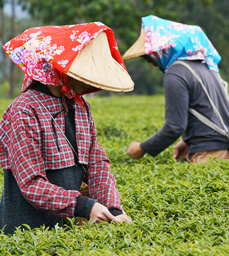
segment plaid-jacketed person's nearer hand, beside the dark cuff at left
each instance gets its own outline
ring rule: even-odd
[[[90,212],[90,219],[97,220],[98,222],[102,221],[116,221],[116,218],[111,214],[108,208],[102,204],[94,203],[93,207],[91,208]]]

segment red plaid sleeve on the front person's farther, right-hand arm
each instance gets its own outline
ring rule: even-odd
[[[110,172],[110,162],[98,144],[93,117],[90,116],[90,151],[87,166],[87,183],[90,197],[96,199],[100,204],[108,208],[115,207],[122,211],[120,196],[116,188],[116,180]]]

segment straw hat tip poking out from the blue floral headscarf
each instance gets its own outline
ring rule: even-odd
[[[137,41],[134,43],[134,45],[131,48],[129,48],[124,53],[122,58],[131,59],[131,58],[139,57],[142,55],[145,55],[145,30],[144,29],[141,29],[141,33]]]

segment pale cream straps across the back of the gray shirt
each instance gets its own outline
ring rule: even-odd
[[[219,121],[221,122],[224,130],[221,129],[217,124],[212,122],[209,118],[207,118],[206,116],[203,116],[202,114],[200,114],[196,110],[189,108],[189,112],[192,113],[198,120],[200,120],[201,122],[203,122],[207,126],[209,126],[211,129],[215,130],[216,132],[220,133],[223,136],[226,136],[227,139],[229,139],[228,129],[227,129],[225,123],[223,122],[223,119],[222,119],[219,111],[217,110],[214,102],[212,101],[212,99],[211,99],[211,97],[210,97],[210,95],[208,93],[208,90],[204,86],[204,84],[203,84],[202,80],[200,79],[200,77],[198,76],[198,74],[195,72],[195,70],[188,63],[186,63],[186,62],[184,62],[182,60],[175,60],[175,61],[173,61],[172,64],[169,66],[169,68],[174,66],[174,65],[177,65],[177,64],[185,66],[195,76],[197,81],[200,83],[200,86],[202,87],[203,91],[205,92],[206,96],[208,97],[208,100],[209,100],[209,102],[210,102],[210,104],[211,104],[211,106],[213,108],[213,111],[214,111],[215,115],[217,116],[217,118],[219,119]],[[225,89],[223,91],[225,92]],[[228,99],[228,95],[227,95],[226,98]],[[228,104],[229,104],[229,99],[228,99]]]

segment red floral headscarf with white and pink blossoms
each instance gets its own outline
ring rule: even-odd
[[[22,91],[34,79],[44,84],[61,85],[63,93],[74,98],[77,95],[69,86],[68,69],[80,51],[103,31],[107,34],[112,57],[125,69],[113,31],[100,22],[30,28],[3,48],[26,74]]]

